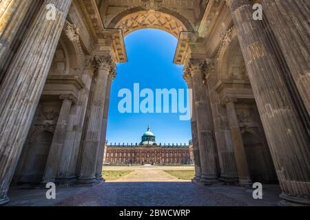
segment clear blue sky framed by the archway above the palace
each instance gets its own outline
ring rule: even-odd
[[[134,83],[140,89],[187,89],[183,66],[174,65],[177,39],[161,30],[144,29],[125,37],[127,63],[117,65],[117,77],[111,91],[107,142],[136,143],[147,124],[159,143],[188,143],[192,139],[190,121],[180,121],[180,113],[119,113],[120,89],[130,89]],[[185,96],[186,97],[186,96]],[[141,98],[143,100],[143,98]]]

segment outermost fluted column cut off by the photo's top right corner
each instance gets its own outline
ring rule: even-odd
[[[263,10],[302,102],[310,114],[310,4],[306,0],[264,0]],[[309,117],[309,116],[308,116]]]

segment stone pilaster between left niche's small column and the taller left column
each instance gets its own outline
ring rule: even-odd
[[[87,56],[85,58],[85,69],[82,74],[82,80],[85,87],[79,93],[76,103],[76,114],[72,127],[68,127],[65,133],[65,142],[63,144],[63,153],[59,162],[56,181],[60,184],[71,184],[76,180],[76,166],[81,146],[82,131],[85,122],[87,103],[90,100],[90,87],[92,77],[94,76],[94,58]]]

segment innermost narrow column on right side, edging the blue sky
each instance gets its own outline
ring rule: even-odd
[[[189,74],[184,75],[185,81],[187,82],[188,88],[193,89],[192,76]],[[194,182],[198,182],[201,177],[201,165],[200,165],[200,153],[198,146],[198,133],[197,133],[197,119],[196,119],[196,109],[195,109],[195,97],[192,97],[192,139],[193,139],[193,151],[194,151],[194,163],[195,163],[195,177],[192,179]]]

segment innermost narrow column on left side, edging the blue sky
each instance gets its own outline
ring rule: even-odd
[[[105,95],[105,107],[103,113],[103,126],[101,131],[101,140],[99,146],[99,153],[97,156],[97,167],[96,167],[96,178],[98,180],[103,180],[102,177],[102,166],[103,166],[103,155],[105,152],[105,141],[107,137],[107,116],[109,114],[110,96],[111,96],[111,86],[114,78],[116,77],[116,69],[112,67],[110,70],[109,77],[107,79],[107,91]]]

